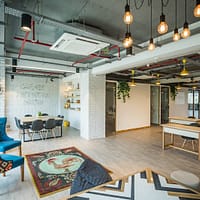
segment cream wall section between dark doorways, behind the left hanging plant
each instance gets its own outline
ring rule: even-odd
[[[150,85],[131,87],[130,98],[116,102],[116,131],[150,126]]]

